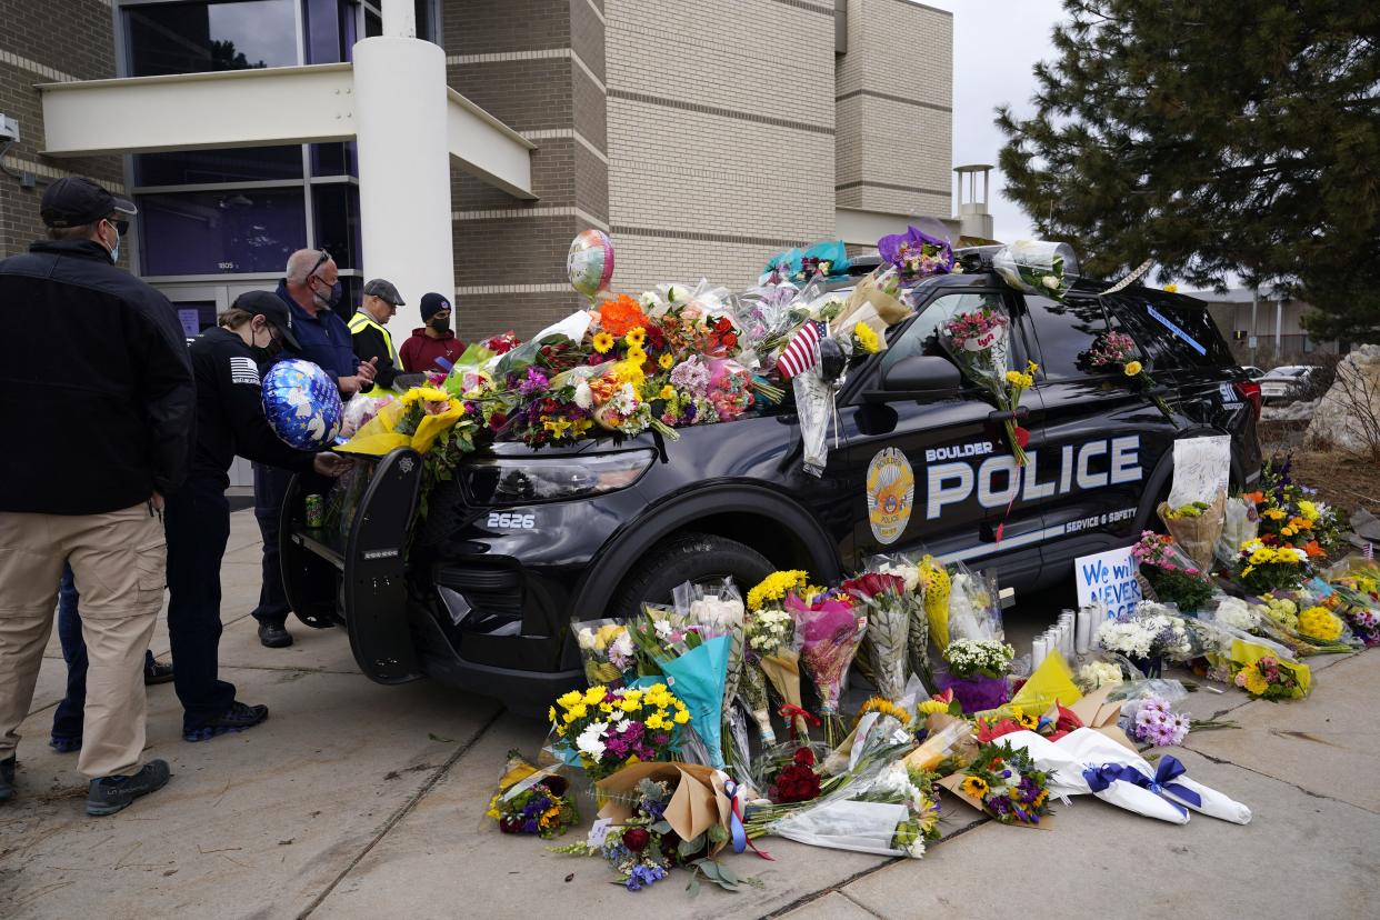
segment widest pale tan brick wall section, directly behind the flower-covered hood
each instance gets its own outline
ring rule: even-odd
[[[834,232],[834,8],[607,0],[614,283],[740,287]]]

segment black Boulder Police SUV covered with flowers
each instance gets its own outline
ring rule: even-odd
[[[395,451],[344,538],[305,527],[312,484],[295,480],[282,528],[293,608],[342,625],[377,681],[426,674],[545,712],[582,680],[573,618],[631,615],[684,581],[731,575],[747,590],[805,568],[834,582],[874,554],[923,549],[1032,590],[1152,526],[1176,439],[1227,433],[1234,484],[1259,477],[1260,385],[1199,301],[1090,281],[1063,303],[1023,295],[991,270],[992,251],[963,251],[970,270],[919,281],[918,313],[847,368],[821,476],[803,469],[789,400],[676,441],[497,443],[432,491],[425,516],[420,458]],[[1024,469],[1002,414],[937,343],[940,323],[983,305],[1012,316],[1010,367],[1039,364],[1017,419]],[[1134,339],[1154,389],[1090,366],[1107,332]]]

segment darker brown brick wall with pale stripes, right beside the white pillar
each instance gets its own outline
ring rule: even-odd
[[[538,145],[537,201],[453,170],[455,316],[462,338],[527,337],[578,309],[566,251],[609,228],[603,4],[446,0],[442,33],[457,92]]]

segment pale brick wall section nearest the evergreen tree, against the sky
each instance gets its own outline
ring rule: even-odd
[[[849,52],[835,73],[839,207],[951,215],[952,15],[849,0]]]

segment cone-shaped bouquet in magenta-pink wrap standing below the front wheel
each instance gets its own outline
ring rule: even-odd
[[[843,734],[839,699],[849,665],[867,632],[867,615],[850,594],[838,590],[813,592],[803,599],[788,594],[785,608],[795,617],[800,663],[820,694],[820,717],[832,748]]]

